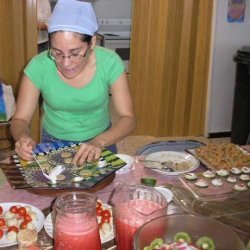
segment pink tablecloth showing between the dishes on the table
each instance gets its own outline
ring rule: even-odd
[[[141,156],[140,156],[141,157]],[[144,164],[138,159],[140,157],[135,158],[135,162],[132,165],[132,168],[129,172],[124,174],[116,174],[113,182],[103,188],[102,190],[99,190],[96,193],[98,198],[100,198],[104,203],[109,202],[109,198],[113,190],[124,183],[130,183],[130,184],[140,184],[142,177],[154,177],[157,179],[157,186],[166,186],[168,188],[171,188],[172,186],[178,185],[178,177],[177,176],[166,176],[162,175],[156,171],[153,171],[151,169],[148,169],[144,166]],[[8,161],[8,159],[7,159]],[[203,171],[204,167],[199,166],[199,168],[196,171]],[[6,196],[6,193],[8,193],[8,196]],[[26,190],[13,190],[9,183],[6,181],[6,178],[4,175],[0,172],[0,200],[1,202],[25,202],[32,204],[39,209],[43,210],[45,216],[51,211],[50,206],[55,198],[50,196],[40,196],[36,194],[32,194]],[[174,213],[183,213],[181,207],[176,205],[174,202],[171,202],[168,206],[168,214],[174,214]],[[243,240],[246,242],[247,239],[244,238]],[[39,232],[39,241],[41,243],[42,249],[53,249],[52,246],[52,239],[46,234],[45,230],[42,229]],[[110,241],[108,243],[103,244],[103,250],[108,249],[114,245],[114,241]],[[12,250],[16,249],[16,246],[8,247],[6,249]]]

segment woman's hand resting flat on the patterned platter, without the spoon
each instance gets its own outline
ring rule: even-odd
[[[102,153],[101,144],[95,141],[89,141],[87,143],[81,144],[80,148],[75,154],[73,163],[77,165],[82,165],[84,162],[91,162],[98,160]]]

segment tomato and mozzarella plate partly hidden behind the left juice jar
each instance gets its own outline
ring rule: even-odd
[[[103,203],[101,200],[98,200],[96,204],[96,216],[101,243],[105,243],[114,239],[112,207],[108,204]],[[44,221],[44,229],[51,238],[54,237],[54,221],[54,212],[48,214]]]

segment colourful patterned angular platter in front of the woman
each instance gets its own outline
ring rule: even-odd
[[[126,165],[107,149],[103,150],[99,161],[82,166],[73,165],[71,162],[78,147],[76,144],[39,144],[34,150],[37,161],[23,161],[14,155],[14,164],[3,166],[2,169],[14,189],[90,190],[106,179],[111,182],[115,171]],[[57,176],[56,182],[51,182],[43,172],[49,174],[58,165],[62,165],[65,170]]]

